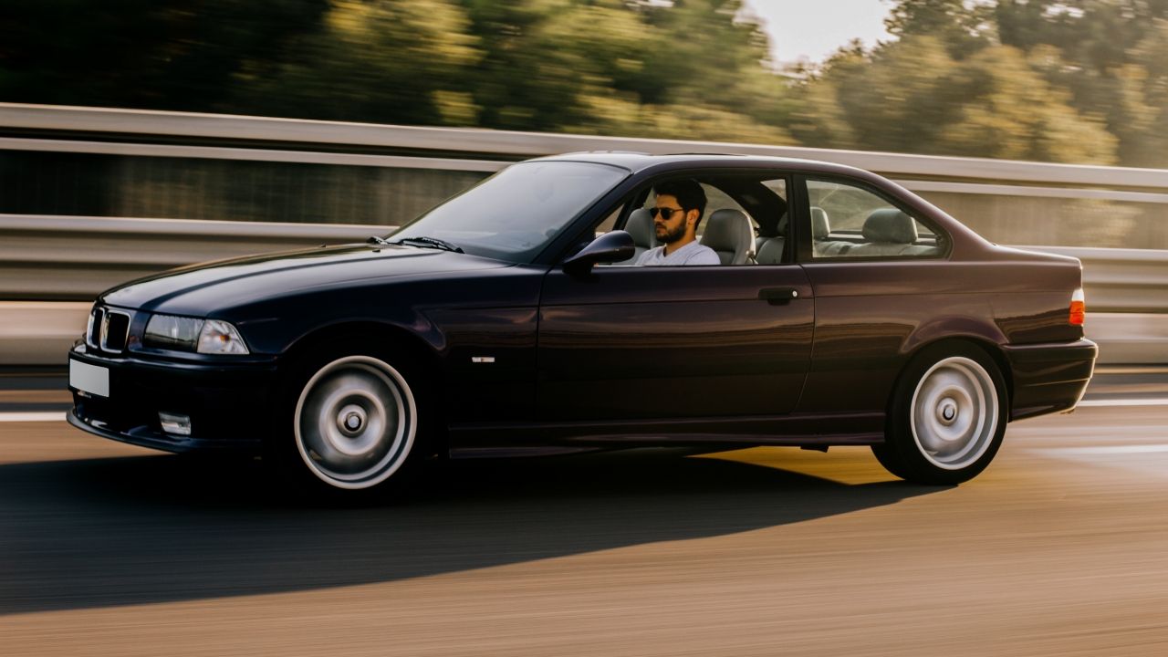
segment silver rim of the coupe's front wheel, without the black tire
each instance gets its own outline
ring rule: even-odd
[[[371,489],[398,473],[418,437],[418,401],[402,371],[348,354],[310,372],[293,412],[301,466],[346,490]]]

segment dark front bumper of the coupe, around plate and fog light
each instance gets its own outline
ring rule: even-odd
[[[272,430],[276,393],[274,361],[188,364],[109,358],[84,345],[71,360],[109,371],[109,396],[70,386],[74,408],[69,423],[124,443],[173,452],[217,451],[259,454]],[[159,413],[190,417],[190,435],[162,430]]]

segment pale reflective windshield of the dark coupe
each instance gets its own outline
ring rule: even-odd
[[[530,262],[628,172],[592,162],[531,161],[500,171],[402,227],[392,242],[442,240],[468,254]]]

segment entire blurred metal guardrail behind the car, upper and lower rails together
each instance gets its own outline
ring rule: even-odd
[[[424,177],[440,172],[482,174],[519,159],[572,151],[742,153],[827,160],[875,171],[926,196],[940,194],[946,205],[959,206],[957,216],[975,228],[981,226],[987,235],[1003,226],[1062,226],[1059,216],[1069,216],[1072,226],[1086,220],[1097,230],[1100,226],[1110,229],[1107,221],[1119,226],[1128,221],[1124,216],[1136,216],[1131,221],[1143,222],[1143,233],[1134,231],[1124,237],[1126,241],[1115,238],[1112,243],[1161,244],[1161,220],[1168,219],[1163,210],[1168,206],[1168,171],[1163,170],[753,144],[0,103],[0,151],[382,167],[413,170]],[[415,179],[409,180],[404,187]],[[966,202],[972,199],[985,202]],[[1034,206],[1043,199],[1047,205]],[[1058,215],[1063,212],[1058,203],[1070,209]],[[1091,212],[1096,214],[1084,216]],[[340,216],[399,220],[394,214]],[[0,364],[58,362],[68,346],[63,340],[79,331],[72,325],[84,320],[89,300],[123,281],[193,262],[362,241],[389,230],[367,224],[0,215],[0,299],[7,299],[0,300]],[[1155,238],[1141,241],[1146,236]],[[1042,231],[1007,230],[994,238],[1049,237]],[[1168,250],[1027,248],[1083,261],[1089,309],[1096,321],[1089,334],[1104,344],[1101,361],[1168,362]]]

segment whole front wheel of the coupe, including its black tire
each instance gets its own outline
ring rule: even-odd
[[[374,345],[305,359],[281,395],[269,449],[283,479],[350,498],[406,484],[427,456],[420,372]]]

